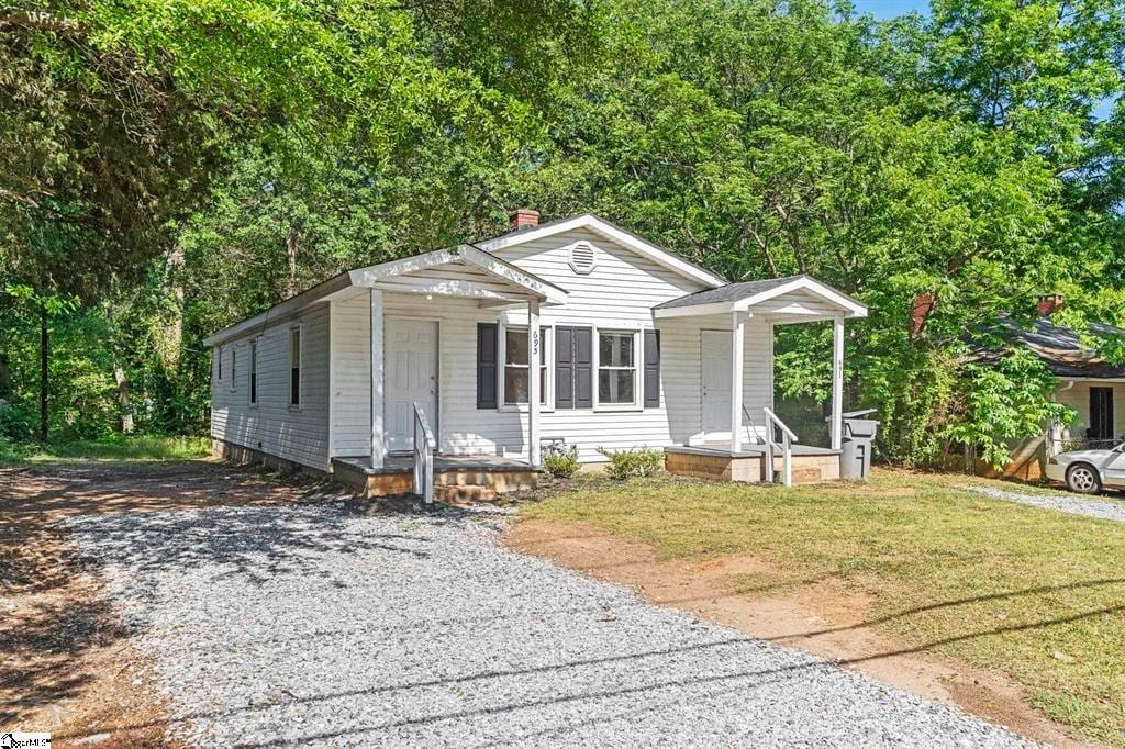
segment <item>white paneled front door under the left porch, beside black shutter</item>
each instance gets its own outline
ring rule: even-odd
[[[438,323],[388,317],[384,357],[387,450],[413,450],[415,400],[438,434]]]

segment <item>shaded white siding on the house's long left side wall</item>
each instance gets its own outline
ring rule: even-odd
[[[305,408],[299,412],[289,407],[289,330],[295,323],[303,331]],[[224,371],[232,381],[212,388],[212,436],[328,470],[328,305],[225,343],[223,351],[249,362],[251,339],[258,344],[258,403],[250,404],[249,367]]]

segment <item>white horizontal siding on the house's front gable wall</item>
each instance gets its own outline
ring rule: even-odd
[[[575,273],[569,263],[568,247],[585,240],[596,247],[597,265],[588,276]],[[651,308],[666,299],[680,297],[703,287],[658,265],[632,251],[618,246],[585,231],[548,237],[526,245],[500,251],[505,260],[556,283],[569,292],[562,307],[543,306],[541,325],[554,339],[558,325],[578,325],[594,328],[637,332],[633,350],[634,367],[642,361],[642,339],[639,332],[654,327]],[[459,277],[462,268],[448,272]],[[432,277],[433,272],[426,273]],[[474,279],[477,280],[477,279]],[[482,308],[476,300],[450,297],[425,299],[413,290],[417,278],[399,285],[407,294],[384,290],[386,317],[435,319],[440,323],[439,343],[439,440],[447,453],[487,453],[520,455],[526,453],[526,405],[476,408],[476,352],[477,323],[501,323],[505,326],[526,328],[525,307],[510,310]],[[370,389],[370,303],[366,294],[333,304],[333,340],[335,341],[334,379],[335,404],[333,410],[333,454],[364,455],[370,445],[370,416],[367,404]],[[665,326],[662,324],[660,328]],[[677,349],[677,336],[663,343],[662,379],[664,387],[670,381],[700,378],[699,326],[685,334],[685,345]],[[668,335],[662,333],[662,335]],[[694,336],[694,337],[692,337]],[[752,336],[747,336],[749,341]],[[502,339],[503,341],[503,339]],[[597,345],[596,339],[594,345]],[[760,350],[760,345],[758,346]],[[685,425],[676,428],[674,419],[665,412],[665,397],[660,406],[642,408],[641,380],[634,385],[636,405],[629,410],[566,408],[550,410],[550,381],[554,377],[554,340],[542,348],[547,370],[548,407],[540,416],[543,439],[562,437],[577,445],[580,459],[587,462],[604,460],[597,448],[627,450],[639,446],[659,448],[686,440],[698,431],[699,391],[688,397],[694,404],[692,417],[681,419]],[[677,362],[678,354],[690,357]],[[749,357],[748,357],[749,359]],[[688,369],[691,373],[683,373]],[[596,373],[594,374],[596,378]],[[502,382],[501,382],[502,385]],[[760,382],[758,383],[762,385]],[[596,380],[594,382],[596,388]],[[747,378],[747,387],[752,387]],[[503,390],[500,390],[503,397]],[[768,404],[763,404],[768,405]]]

